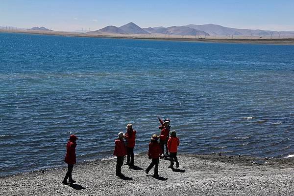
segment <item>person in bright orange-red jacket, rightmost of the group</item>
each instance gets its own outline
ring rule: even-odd
[[[176,136],[176,131],[172,131],[171,133],[171,137],[169,138],[168,141],[168,149],[171,155],[171,165],[169,166],[169,168],[172,168],[173,170],[173,160],[176,163],[176,167],[179,167],[179,162],[177,160],[176,157],[176,153],[177,153],[177,147],[180,145],[180,140],[179,138]]]

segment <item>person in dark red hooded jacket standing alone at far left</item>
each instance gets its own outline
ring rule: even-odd
[[[69,178],[69,183],[75,183],[75,180],[73,180],[72,172],[73,172],[73,164],[76,162],[75,157],[75,147],[76,147],[76,140],[77,136],[74,134],[70,136],[70,139],[66,145],[66,155],[64,158],[64,162],[68,164],[68,171],[62,181],[63,184],[67,184],[67,179]]]

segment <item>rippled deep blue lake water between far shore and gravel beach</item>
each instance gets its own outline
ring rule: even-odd
[[[0,175],[112,156],[132,123],[146,152],[156,116],[179,152],[294,153],[294,46],[0,33]]]

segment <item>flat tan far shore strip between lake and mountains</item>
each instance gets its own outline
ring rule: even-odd
[[[34,30],[6,30],[0,29],[0,33],[25,33],[34,35],[55,35],[66,37],[88,37],[88,38],[108,38],[108,39],[134,39],[134,40],[152,40],[152,41],[177,41],[177,42],[194,42],[194,43],[227,43],[227,44],[274,44],[274,45],[294,45],[294,38],[280,39],[246,39],[246,38],[181,38],[179,36],[163,37],[163,35],[107,35],[107,34],[87,34],[61,31],[34,31]]]

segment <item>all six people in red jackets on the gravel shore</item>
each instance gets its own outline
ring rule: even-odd
[[[160,157],[170,156],[171,165],[169,168],[174,170],[174,162],[176,163],[176,167],[179,167],[179,162],[177,160],[177,148],[180,145],[179,138],[176,136],[176,131],[171,132],[170,136],[170,119],[162,120],[157,117],[160,126],[158,127],[161,132],[158,136],[157,134],[153,134],[151,136],[151,140],[149,143],[148,149],[148,158],[151,159],[150,165],[147,167],[146,174],[154,167],[153,176],[158,176],[158,165]],[[133,129],[132,124],[127,124],[126,133],[119,132],[118,138],[115,140],[115,148],[113,155],[117,156],[117,164],[116,164],[116,175],[119,177],[123,177],[122,174],[122,166],[124,157],[127,156],[125,165],[128,165],[129,168],[134,167],[134,147],[136,143],[136,133],[137,131]],[[63,184],[75,183],[73,180],[72,172],[73,172],[73,164],[76,163],[75,157],[75,147],[76,140],[78,138],[73,134],[70,136],[70,139],[66,146],[66,156],[65,162],[68,164],[68,171],[62,181]],[[166,146],[166,153],[164,151],[164,147]],[[69,179],[69,181],[67,181]]]

